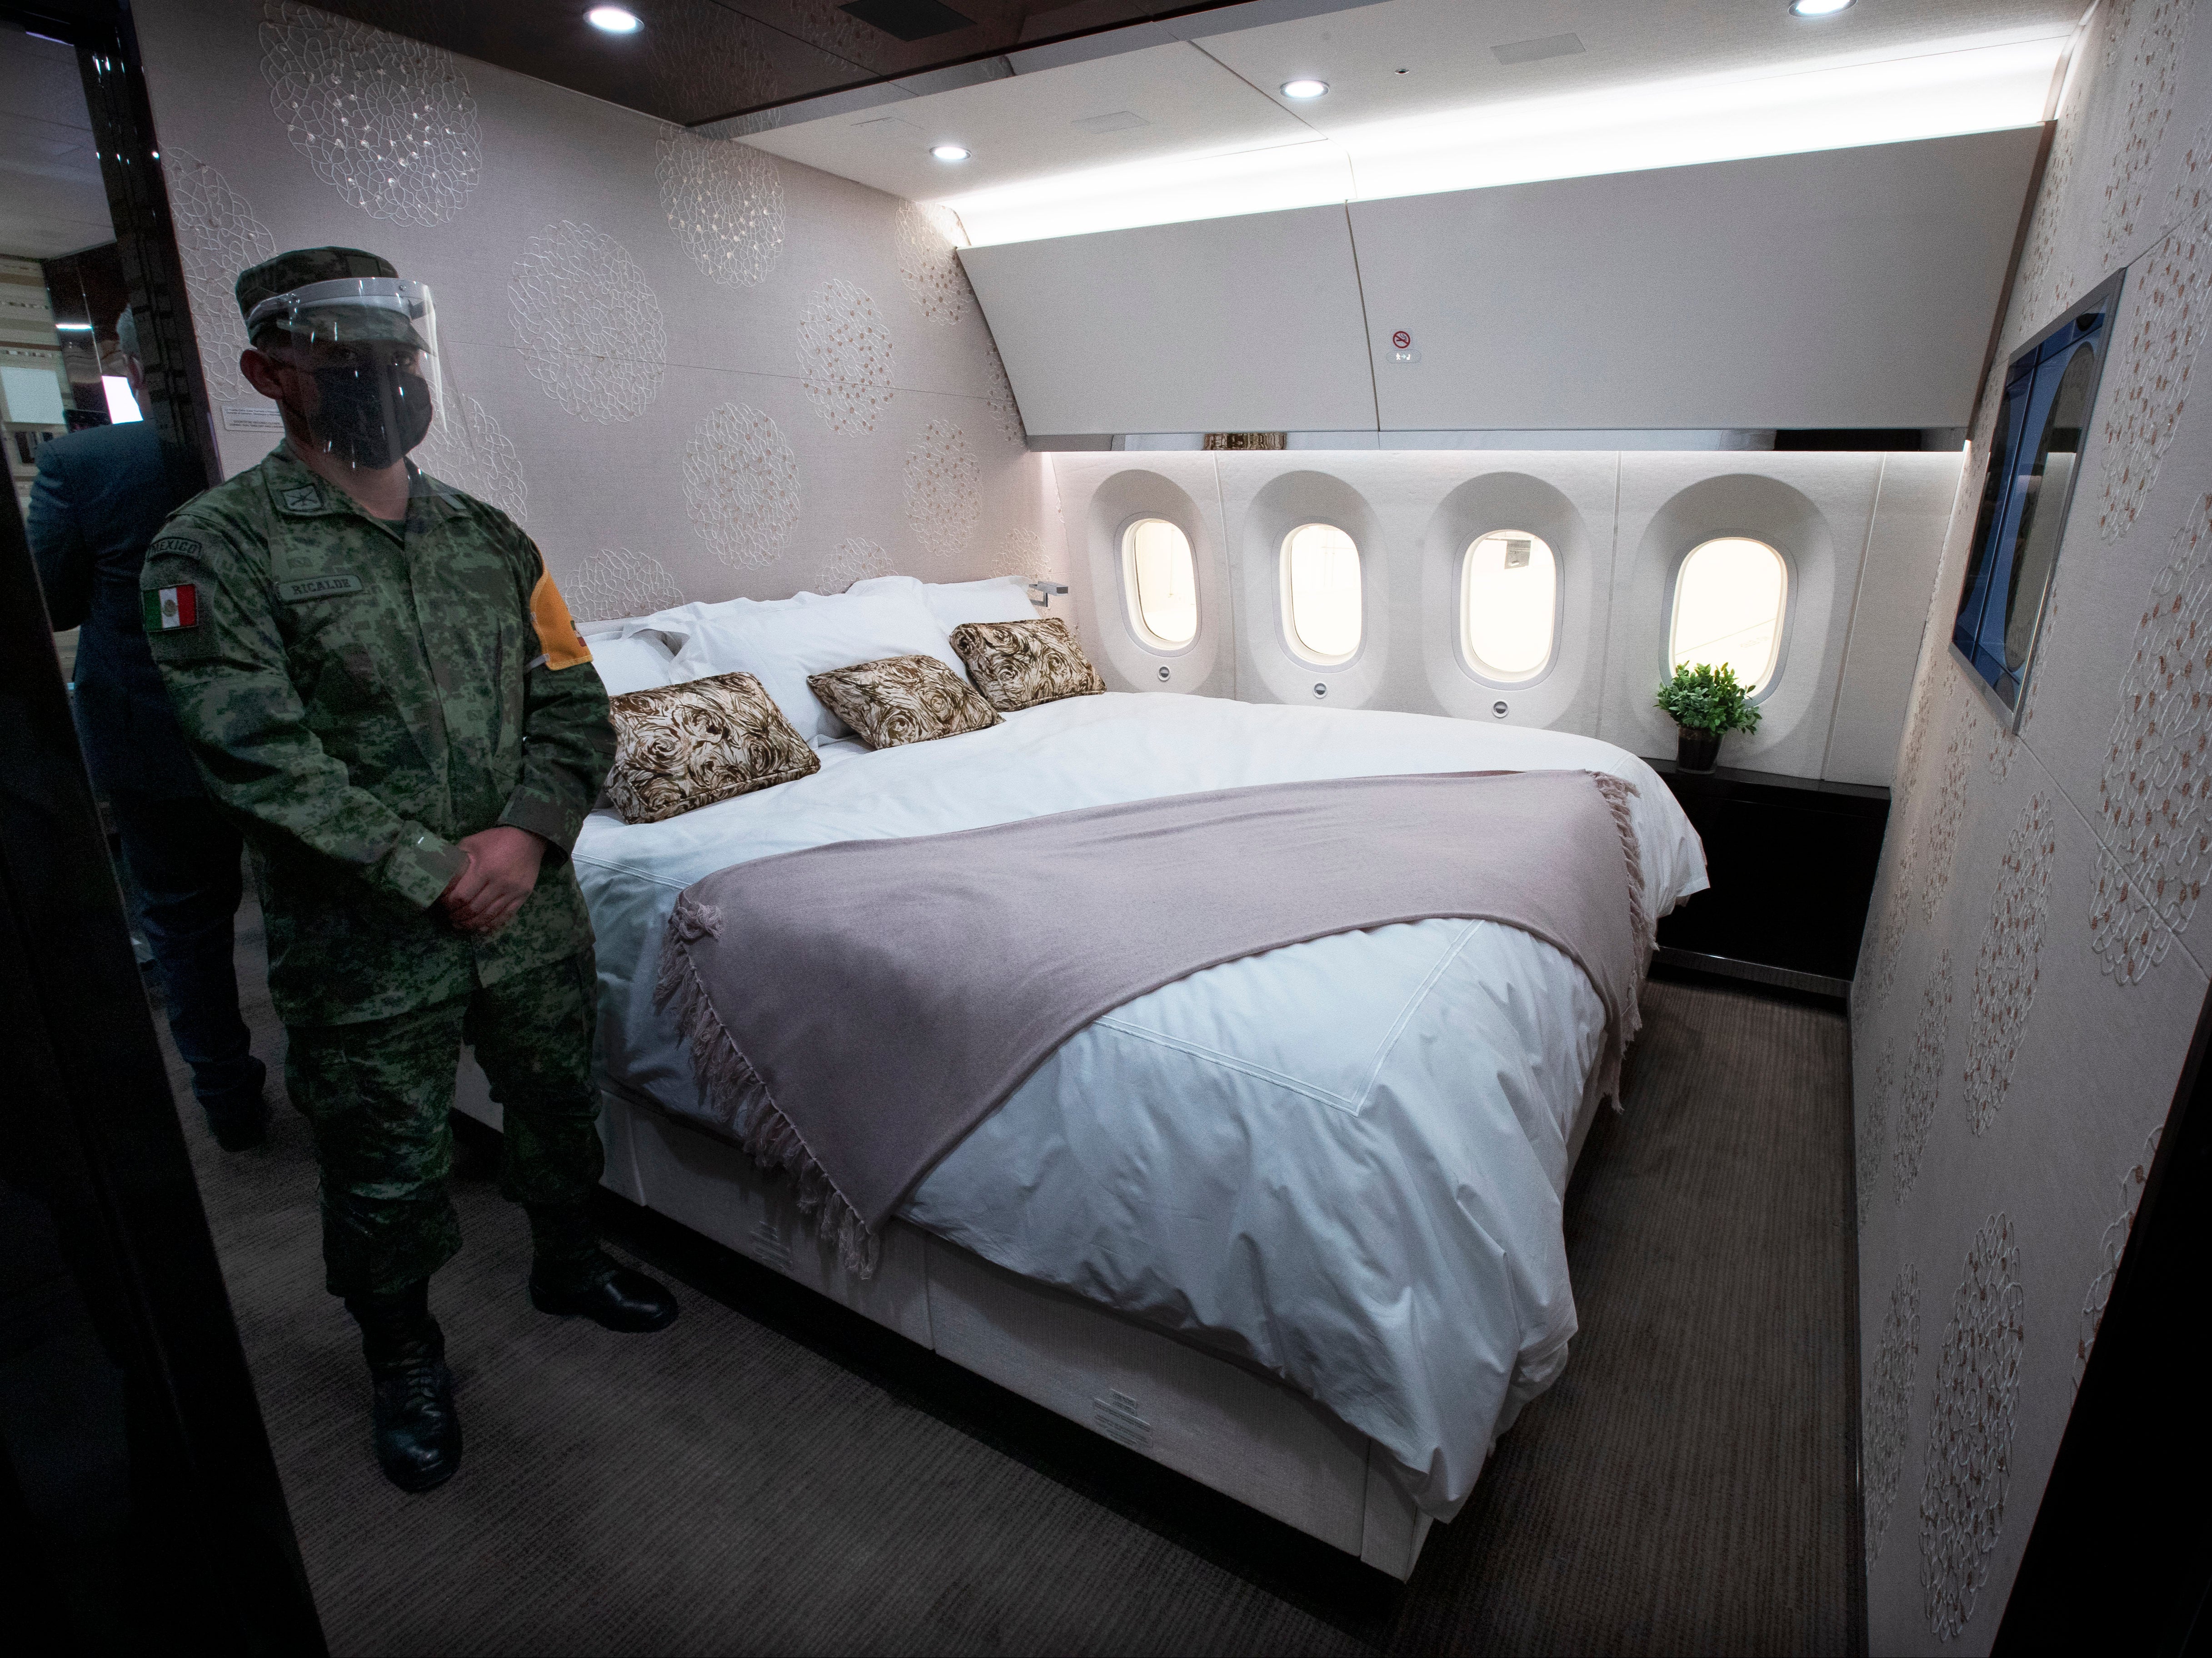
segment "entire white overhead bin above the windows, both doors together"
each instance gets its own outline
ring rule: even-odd
[[[2039,141],[1511,183],[962,263],[1033,433],[1958,427]]]

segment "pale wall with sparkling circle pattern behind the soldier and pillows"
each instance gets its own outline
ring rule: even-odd
[[[1066,579],[942,214],[292,0],[135,15],[228,471],[272,444],[232,279],[343,243],[436,292],[418,464],[522,522],[582,619]]]

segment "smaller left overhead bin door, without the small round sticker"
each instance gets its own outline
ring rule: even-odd
[[[1374,431],[1343,208],[960,254],[1029,431]]]

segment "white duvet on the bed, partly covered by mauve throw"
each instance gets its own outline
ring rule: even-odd
[[[593,814],[575,867],[606,1083],[699,1114],[653,982],[675,895],[717,869],[1199,789],[1542,767],[1637,785],[1652,915],[1703,891],[1681,807],[1608,743],[1206,696],[1077,696],[940,743],[832,743],[816,776],[681,818]],[[900,1214],[1281,1375],[1387,1446],[1449,1519],[1566,1362],[1559,1203],[1601,1030],[1582,970],[1495,922],[1294,944],[1071,1037]]]

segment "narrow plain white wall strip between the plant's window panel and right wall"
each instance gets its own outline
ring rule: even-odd
[[[1820,776],[1889,787],[1905,734],[1920,630],[1936,586],[1942,535],[1958,495],[1960,455],[1882,458],[1867,562],[1858,575],[1843,688]]]

